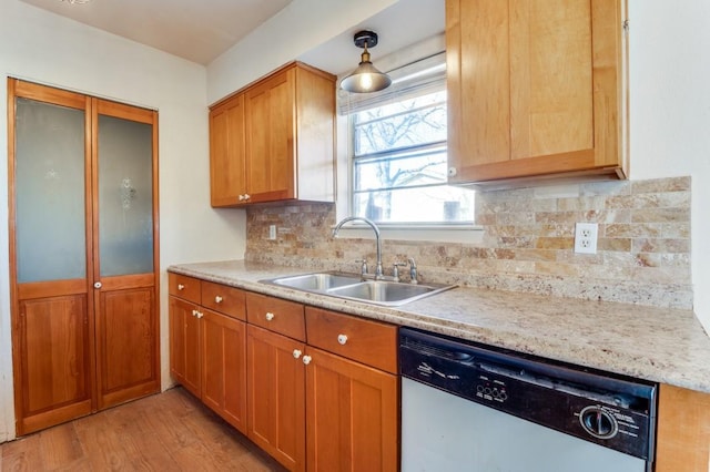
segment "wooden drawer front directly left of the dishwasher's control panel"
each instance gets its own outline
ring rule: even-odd
[[[320,308],[306,308],[308,345],[397,372],[397,327]]]

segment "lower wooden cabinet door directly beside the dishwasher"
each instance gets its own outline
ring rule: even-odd
[[[308,355],[308,470],[397,470],[397,377],[320,349]]]

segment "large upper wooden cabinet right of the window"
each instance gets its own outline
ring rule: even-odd
[[[447,0],[449,182],[626,177],[625,18],[625,0]]]

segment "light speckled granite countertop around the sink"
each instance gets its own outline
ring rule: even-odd
[[[710,338],[691,310],[457,287],[400,307],[260,280],[307,269],[243,260],[168,270],[400,326],[710,392]]]

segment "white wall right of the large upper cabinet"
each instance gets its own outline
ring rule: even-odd
[[[710,2],[629,0],[631,178],[692,176],[694,311],[710,332]]]

